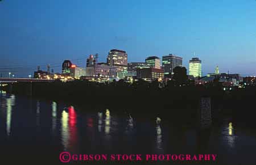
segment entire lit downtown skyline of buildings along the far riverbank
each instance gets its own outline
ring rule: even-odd
[[[183,58],[175,54],[162,56],[146,57],[143,62],[127,62],[128,54],[124,50],[112,49],[106,57],[106,62],[98,62],[98,54],[90,54],[86,60],[85,67],[79,67],[72,64],[70,60],[65,60],[62,65],[61,73],[50,72],[47,65],[47,71],[35,71],[34,78],[54,78],[63,81],[72,79],[87,79],[88,81],[106,82],[118,81],[124,79],[126,82],[138,81],[168,81],[174,75],[175,67],[184,67]],[[216,66],[214,73],[207,76],[202,75],[202,61],[198,57],[189,60],[188,79],[195,81],[195,84],[212,83],[214,79],[226,84],[227,86],[236,85],[243,82],[239,74],[220,73]]]

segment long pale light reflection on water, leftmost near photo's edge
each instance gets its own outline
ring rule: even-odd
[[[6,133],[7,136],[11,134],[11,111],[15,104],[15,96],[11,95],[10,98],[6,99]]]

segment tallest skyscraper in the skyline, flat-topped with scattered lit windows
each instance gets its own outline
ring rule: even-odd
[[[123,78],[127,73],[127,53],[123,50],[112,49],[107,58],[107,64],[117,69],[119,78]]]

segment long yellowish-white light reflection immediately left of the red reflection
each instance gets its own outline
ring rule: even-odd
[[[67,150],[69,140],[68,113],[63,110],[61,116],[61,139],[64,150]]]

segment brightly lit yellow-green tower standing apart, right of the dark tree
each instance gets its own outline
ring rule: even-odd
[[[202,77],[202,61],[199,58],[189,60],[189,75],[193,77]]]

